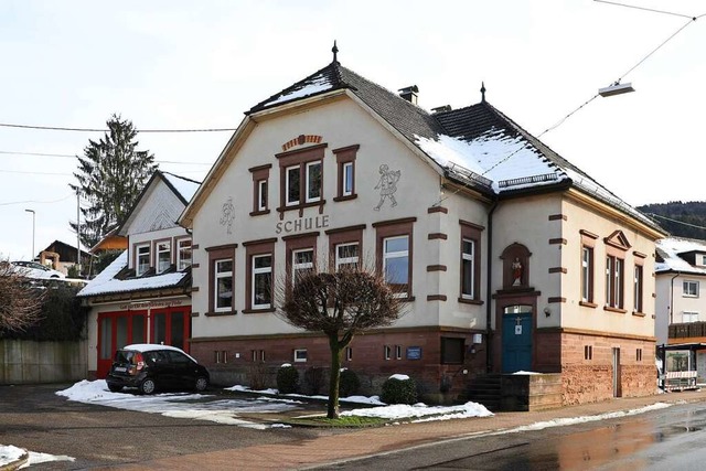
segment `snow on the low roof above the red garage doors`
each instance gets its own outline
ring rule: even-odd
[[[129,278],[125,280],[116,279],[116,275],[128,265],[128,250],[120,254],[105,270],[100,271],[96,278],[88,281],[81,291],[79,297],[98,296],[113,292],[141,291],[146,289],[167,288],[175,286],[181,281],[186,272],[175,271],[164,275],[157,275],[145,278]]]

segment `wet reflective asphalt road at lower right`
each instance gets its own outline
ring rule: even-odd
[[[706,404],[515,433],[486,433],[318,470],[703,470]]]

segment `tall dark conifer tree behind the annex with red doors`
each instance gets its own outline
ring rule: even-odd
[[[78,170],[76,184],[69,186],[88,202],[82,207],[81,242],[96,245],[105,234],[125,222],[142,188],[157,170],[154,156],[138,150],[137,130],[132,122],[113,115],[106,122],[108,131],[97,142],[88,140]],[[76,231],[77,224],[69,223]]]

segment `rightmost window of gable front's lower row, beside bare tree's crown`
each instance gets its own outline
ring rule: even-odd
[[[376,229],[376,265],[396,296],[413,300],[413,225],[416,217],[374,223]]]

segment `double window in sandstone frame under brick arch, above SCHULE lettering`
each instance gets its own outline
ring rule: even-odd
[[[327,144],[278,153],[280,168],[279,212],[325,203],[323,157]]]

